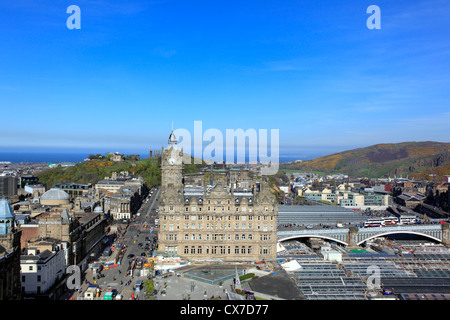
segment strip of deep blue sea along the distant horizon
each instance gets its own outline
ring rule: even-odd
[[[63,152],[0,152],[0,161],[12,163],[61,163],[61,162],[83,162],[89,153],[63,153]],[[148,158],[148,154],[141,154],[141,159]],[[294,160],[308,160],[299,156],[280,156],[280,162]]]

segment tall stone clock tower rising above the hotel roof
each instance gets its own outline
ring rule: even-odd
[[[169,136],[167,149],[161,152],[161,192],[162,198],[169,190],[182,191],[183,180],[183,149],[177,146],[177,138],[172,133]]]

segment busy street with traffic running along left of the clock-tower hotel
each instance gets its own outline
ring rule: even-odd
[[[98,277],[98,273],[88,269],[85,272],[85,281],[83,281],[81,290],[74,293],[73,299],[80,299],[79,297],[82,297],[89,283],[97,284],[103,290],[100,298],[103,297],[107,289],[116,289],[122,295],[123,300],[129,300],[132,294],[133,296],[136,295],[134,290],[136,281],[139,278],[144,280],[147,277],[140,277],[140,270],[135,269],[134,272],[131,272],[130,264],[136,258],[140,258],[143,253],[150,255],[157,243],[158,229],[155,228],[155,218],[157,217],[158,200],[161,191],[160,188],[154,188],[153,190],[153,194],[149,194],[138,210],[139,216],[136,215],[131,219],[124,233],[115,241],[116,245],[120,243],[122,248],[126,248],[118,262],[120,264],[107,270],[103,269],[100,272],[100,277]],[[153,229],[152,233],[150,233],[150,229]],[[147,247],[146,244],[148,244]],[[131,257],[130,255],[133,256]]]

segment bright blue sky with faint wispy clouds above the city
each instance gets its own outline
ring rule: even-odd
[[[447,0],[0,0],[0,149],[146,153],[172,121],[300,157],[448,142],[449,30]]]

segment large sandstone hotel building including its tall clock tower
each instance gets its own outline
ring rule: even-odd
[[[183,176],[182,158],[172,132],[161,154],[158,251],[191,260],[275,260],[278,205],[267,184],[224,166]]]

